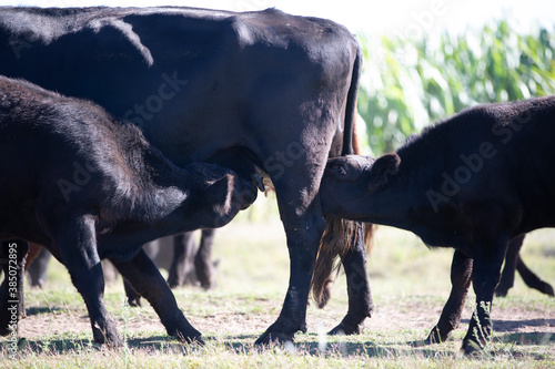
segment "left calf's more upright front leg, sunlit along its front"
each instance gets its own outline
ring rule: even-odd
[[[63,265],[89,310],[94,341],[110,347],[122,346],[115,324],[104,306],[104,276],[97,250],[94,218],[77,216],[58,222],[50,229],[53,245],[59,248]]]

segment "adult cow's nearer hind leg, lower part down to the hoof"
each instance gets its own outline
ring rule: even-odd
[[[292,341],[296,331],[306,331],[306,305],[317,247],[324,232],[324,217],[320,203],[301,217],[292,219],[283,212],[281,216],[291,263],[289,288],[278,320],[256,340],[256,345]]]

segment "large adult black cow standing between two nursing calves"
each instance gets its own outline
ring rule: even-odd
[[[275,9],[1,8],[0,54],[0,73],[134,122],[176,165],[210,162],[242,177],[254,167],[260,188],[272,181],[291,266],[282,311],[259,344],[306,330],[311,281],[325,303],[332,263],[314,266],[326,225],[340,240],[320,248],[343,248],[349,293],[332,332],[359,332],[373,308],[364,237],[343,239],[319,196],[327,157],[352,153],[362,54],[349,30]]]

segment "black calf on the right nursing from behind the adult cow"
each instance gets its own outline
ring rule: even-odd
[[[555,96],[468,109],[377,160],[330,160],[322,206],[411,230],[431,247],[454,247],[452,294],[428,341],[458,326],[472,281],[477,314],[463,341],[472,352],[492,331],[507,243],[555,225],[554,136]]]

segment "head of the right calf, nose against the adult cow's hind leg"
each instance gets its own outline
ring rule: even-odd
[[[401,158],[386,154],[377,160],[349,155],[327,161],[320,186],[325,214],[369,221],[389,212],[389,184],[397,174]]]

